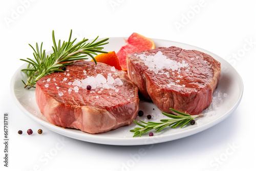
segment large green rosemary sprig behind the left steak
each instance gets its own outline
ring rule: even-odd
[[[22,70],[28,77],[26,83],[22,80],[25,84],[24,88],[30,89],[34,87],[37,80],[53,72],[64,72],[61,68],[70,65],[75,60],[88,59],[86,56],[89,55],[97,64],[93,55],[97,55],[97,53],[108,53],[101,50],[103,49],[103,45],[109,43],[105,42],[109,38],[95,42],[98,38],[96,37],[91,43],[87,42],[88,39],[83,38],[83,40],[74,45],[76,38],[71,41],[71,35],[72,30],[70,31],[69,40],[67,42],[63,41],[61,44],[59,40],[58,44],[56,44],[54,31],[52,31],[53,53],[51,53],[50,56],[46,56],[45,50],[42,50],[42,43],[40,48],[36,43],[36,49],[29,44],[34,51],[34,59],[20,59],[29,63],[27,69]]]

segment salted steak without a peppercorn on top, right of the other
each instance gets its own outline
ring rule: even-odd
[[[127,55],[127,72],[146,99],[196,115],[209,106],[220,78],[220,62],[203,52],[177,47]]]

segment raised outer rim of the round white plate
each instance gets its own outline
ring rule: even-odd
[[[110,37],[111,39],[125,39],[127,37]],[[103,39],[103,38],[99,38],[99,39]],[[194,135],[197,134],[199,132],[202,132],[204,130],[207,130],[208,128],[218,124],[219,122],[223,121],[224,119],[226,119],[231,113],[233,113],[234,110],[237,109],[238,105],[240,104],[241,100],[242,100],[242,96],[243,96],[243,90],[244,90],[244,86],[243,86],[243,80],[242,77],[240,76],[240,74],[237,72],[236,69],[233,68],[233,66],[230,65],[230,63],[228,63],[225,59],[223,59],[222,57],[220,57],[219,55],[216,55],[215,53],[209,52],[205,49],[193,46],[193,45],[189,45],[189,44],[184,44],[181,42],[177,42],[177,41],[172,41],[172,40],[166,40],[166,39],[157,39],[157,38],[152,38],[152,40],[155,41],[168,41],[170,43],[174,43],[174,44],[182,44],[185,46],[189,46],[191,48],[194,49],[199,49],[204,53],[207,54],[214,54],[214,56],[218,56],[219,58],[221,58],[222,60],[224,60],[226,62],[226,64],[228,64],[228,67],[231,68],[234,72],[236,72],[236,75],[238,76],[238,79],[240,80],[240,86],[241,90],[239,92],[238,95],[238,99],[237,101],[234,103],[234,106],[232,106],[231,109],[229,109],[228,112],[226,112],[225,114],[221,115],[220,117],[218,117],[217,119],[215,119],[214,121],[211,121],[209,123],[206,123],[204,125],[201,126],[197,126],[197,127],[193,127],[193,129],[188,129],[182,132],[176,132],[176,133],[172,133],[172,134],[165,134],[165,135],[158,135],[158,136],[153,136],[154,137],[154,141],[149,141],[149,142],[145,142],[146,140],[152,140],[152,137],[100,137],[97,136],[97,134],[81,134],[81,133],[77,133],[77,132],[71,132],[68,129],[65,129],[63,127],[60,126],[56,126],[53,125],[49,122],[46,122],[44,120],[41,120],[40,118],[34,116],[33,114],[31,114],[29,111],[27,111],[24,106],[22,104],[20,104],[20,102],[18,101],[15,92],[14,92],[14,83],[16,80],[16,77],[18,76],[18,74],[20,74],[20,69],[26,67],[27,63],[24,62],[24,64],[22,66],[20,66],[14,73],[14,75],[11,78],[11,82],[10,82],[10,90],[11,90],[11,96],[15,102],[15,104],[18,106],[18,108],[20,110],[22,110],[23,113],[25,113],[27,116],[29,116],[32,120],[35,120],[37,123],[46,126],[47,129],[63,135],[63,136],[67,136],[73,139],[77,139],[77,140],[81,140],[81,141],[87,141],[87,142],[92,142],[92,143],[98,143],[98,144],[107,144],[107,145],[148,145],[148,144],[155,144],[155,143],[161,143],[161,142],[167,142],[167,141],[173,141],[176,139],[180,139],[180,138],[184,138],[190,135]],[[68,131],[67,131],[68,130]],[[82,132],[83,133],[83,132]],[[68,134],[68,135],[67,135]],[[83,138],[85,139],[83,139]],[[161,139],[158,141],[158,139],[161,137]],[[173,137],[173,138],[172,138]],[[88,139],[86,139],[88,138]],[[151,139],[150,139],[151,138]],[[117,143],[113,140],[116,140]],[[139,141],[137,141],[139,140]],[[141,143],[144,142],[144,143]]]

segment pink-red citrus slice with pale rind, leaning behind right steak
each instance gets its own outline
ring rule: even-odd
[[[138,33],[133,33],[124,46],[117,52],[120,66],[123,71],[127,70],[126,56],[130,53],[155,49],[155,43],[152,39],[142,36]]]

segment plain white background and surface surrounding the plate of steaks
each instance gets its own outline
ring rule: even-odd
[[[9,167],[4,167],[1,141],[1,170],[256,170],[255,1],[14,0],[1,1],[0,13],[2,139],[4,112],[10,122]],[[58,135],[17,108],[10,80],[24,63],[19,59],[32,57],[28,44],[43,41],[50,50],[52,30],[57,39],[66,40],[70,29],[77,38],[137,32],[208,50],[239,72],[244,82],[242,101],[214,127],[165,143],[112,146]],[[44,134],[28,136],[29,128]],[[18,135],[18,130],[24,134]]]

